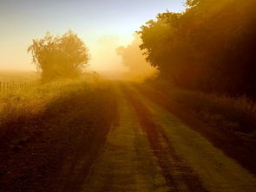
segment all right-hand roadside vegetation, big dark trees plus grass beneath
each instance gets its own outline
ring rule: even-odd
[[[148,85],[207,122],[255,138],[255,1],[187,0],[141,26],[141,50],[159,70]]]

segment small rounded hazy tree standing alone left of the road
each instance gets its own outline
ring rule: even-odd
[[[89,62],[89,49],[71,30],[62,36],[47,33],[43,39],[33,40],[28,52],[42,71],[43,81],[78,77]]]

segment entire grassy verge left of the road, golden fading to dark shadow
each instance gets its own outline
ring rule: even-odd
[[[108,82],[94,74],[1,94],[0,191],[56,191],[63,184],[58,178],[73,177],[69,171],[76,173],[72,164],[79,161],[79,174],[86,174],[115,108]]]

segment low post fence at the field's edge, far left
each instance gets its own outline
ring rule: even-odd
[[[36,86],[36,81],[32,82],[1,82],[0,81],[0,93],[9,93],[10,91],[16,91],[23,88],[29,88],[31,86]]]

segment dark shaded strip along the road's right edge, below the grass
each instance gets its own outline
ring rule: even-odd
[[[163,107],[174,116],[181,118],[182,122],[194,131],[207,138],[215,148],[222,150],[227,157],[233,158],[246,170],[256,175],[256,143],[255,139],[240,137],[233,130],[219,125],[210,125],[206,119],[200,118],[186,106],[172,99],[168,93],[154,89],[147,85],[133,83],[137,90],[158,106]]]

